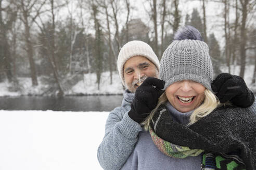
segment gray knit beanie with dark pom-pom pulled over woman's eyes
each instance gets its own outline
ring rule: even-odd
[[[160,62],[160,78],[165,81],[164,90],[182,80],[199,82],[211,90],[213,70],[209,49],[193,26],[182,27],[175,33]]]

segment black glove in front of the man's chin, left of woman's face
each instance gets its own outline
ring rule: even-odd
[[[128,115],[134,121],[141,123],[157,106],[158,98],[163,93],[164,81],[148,77],[135,91],[135,97]],[[155,86],[155,87],[153,87]]]

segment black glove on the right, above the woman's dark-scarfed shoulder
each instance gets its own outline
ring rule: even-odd
[[[239,76],[221,73],[213,80],[211,87],[221,103],[231,101],[234,105],[245,108],[254,102],[254,94]]]

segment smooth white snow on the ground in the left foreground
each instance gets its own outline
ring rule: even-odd
[[[102,169],[108,112],[0,110],[0,169]]]

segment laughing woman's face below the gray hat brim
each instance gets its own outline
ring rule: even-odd
[[[165,94],[171,105],[180,112],[188,112],[197,108],[204,100],[206,88],[199,82],[182,80],[171,84]]]

